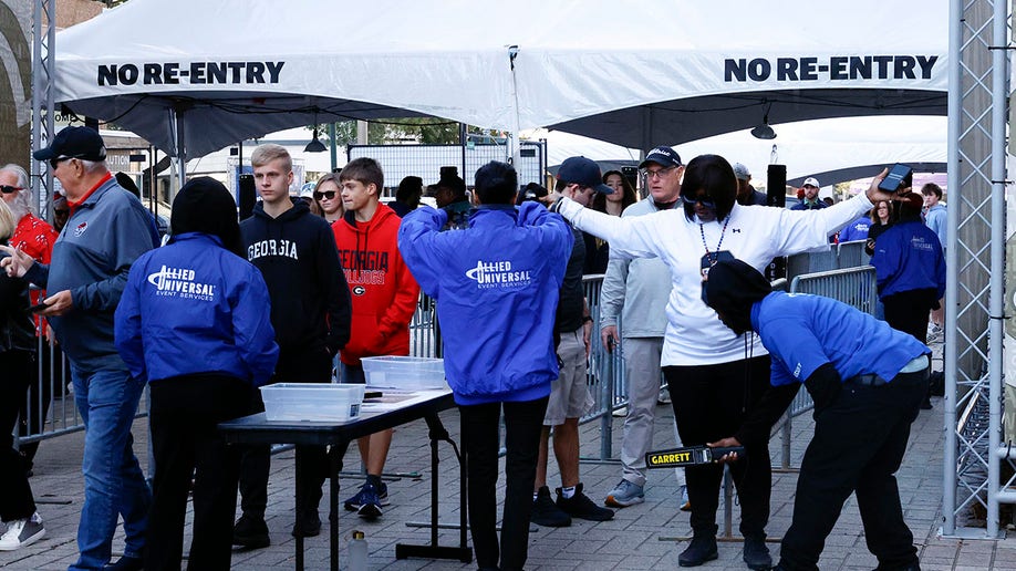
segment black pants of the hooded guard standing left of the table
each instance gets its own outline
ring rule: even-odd
[[[240,455],[237,447],[226,445],[216,426],[242,416],[253,388],[215,374],[166,378],[149,388],[155,481],[145,569],[180,569],[194,474],[194,540],[187,568],[228,570]]]

